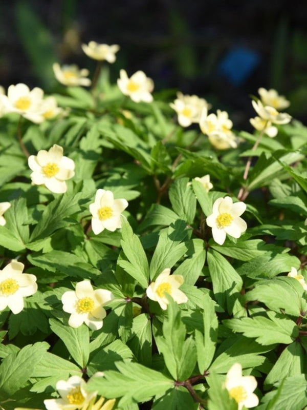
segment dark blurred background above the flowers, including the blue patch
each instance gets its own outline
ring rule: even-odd
[[[307,123],[307,2],[302,0],[20,0],[0,2],[0,84],[47,93],[62,86],[52,64],[89,68],[80,45],[119,44],[119,70],[143,70],[156,97],[177,91],[229,111],[236,128],[255,115],[250,95],[275,88]],[[106,63],[107,65],[107,63]]]

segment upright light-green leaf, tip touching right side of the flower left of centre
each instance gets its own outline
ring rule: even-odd
[[[122,249],[129,262],[126,260],[119,260],[118,263],[121,268],[146,289],[149,281],[147,257],[140,239],[133,233],[129,222],[124,217],[122,217],[122,237]]]

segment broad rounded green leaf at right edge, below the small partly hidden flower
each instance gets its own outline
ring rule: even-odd
[[[303,294],[304,290],[298,280],[284,276],[257,282],[245,298],[263,302],[277,313],[283,309],[288,315],[299,316],[307,311]]]

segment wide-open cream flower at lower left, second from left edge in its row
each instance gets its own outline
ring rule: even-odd
[[[62,295],[63,311],[71,313],[68,324],[79,327],[84,322],[92,330],[101,329],[106,312],[103,306],[113,299],[110,291],[93,290],[89,280],[76,284],[76,291]]]

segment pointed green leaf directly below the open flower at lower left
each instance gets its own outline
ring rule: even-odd
[[[51,330],[62,340],[75,362],[85,368],[90,355],[89,328],[82,324],[75,329],[56,319],[49,322]]]

